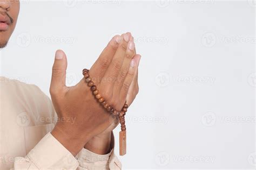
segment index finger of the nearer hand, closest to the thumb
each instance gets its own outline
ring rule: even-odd
[[[107,44],[103,52],[99,55],[99,58],[97,59],[97,61],[91,67],[90,69],[91,77],[94,77],[95,79],[97,78],[100,79],[101,77],[104,76],[121,41],[122,41],[122,37],[119,35],[114,36],[110,40],[109,44]],[[95,83],[99,81],[100,80],[97,79],[95,80]]]

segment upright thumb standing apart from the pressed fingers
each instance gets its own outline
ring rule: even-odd
[[[58,49],[55,53],[55,61],[52,66],[51,94],[58,93],[66,87],[67,65],[66,54],[62,50]]]

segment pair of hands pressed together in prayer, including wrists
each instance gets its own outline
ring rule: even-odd
[[[131,33],[114,36],[91,67],[89,74],[107,103],[122,110],[138,94],[138,65]],[[111,116],[93,96],[84,78],[66,87],[67,58],[63,51],[55,54],[50,94],[59,120],[51,134],[73,155],[82,148],[97,154],[110,152],[111,132],[118,118]],[[82,74],[81,68],[81,74]]]

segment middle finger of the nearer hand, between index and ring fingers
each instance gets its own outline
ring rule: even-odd
[[[114,54],[113,59],[104,74],[105,79],[100,82],[100,89],[104,88],[104,91],[108,93],[107,96],[109,97],[113,95],[110,93],[113,91],[114,82],[117,80],[117,76],[122,67],[126,54],[127,44],[130,39],[129,34],[123,34],[122,37],[122,41],[120,42],[119,47],[117,48],[117,51]]]

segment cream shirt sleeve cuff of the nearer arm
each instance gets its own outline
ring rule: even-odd
[[[14,169],[77,169],[78,161],[49,132],[26,155],[16,157]]]

